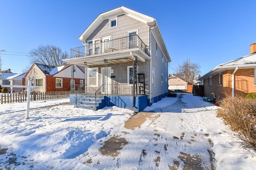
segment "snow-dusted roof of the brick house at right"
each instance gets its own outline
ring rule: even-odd
[[[204,74],[198,80],[204,80],[216,74],[219,74],[226,70],[234,70],[236,67],[239,68],[256,68],[256,53],[252,53],[250,55],[246,55],[239,59],[235,59],[229,61],[227,63],[220,64],[216,66],[214,69],[210,70],[208,73]]]

